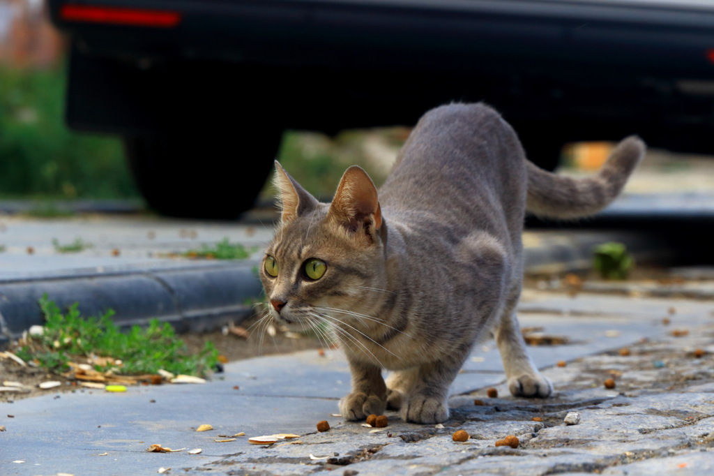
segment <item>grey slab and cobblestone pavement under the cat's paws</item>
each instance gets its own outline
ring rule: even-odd
[[[404,423],[388,412],[388,426],[372,429],[335,416],[350,381],[338,350],[258,357],[227,365],[205,385],[0,404],[0,474],[154,475],[161,467],[191,476],[712,474],[712,282],[699,299],[679,297],[672,286],[664,297],[633,286],[620,284],[617,295],[524,293],[522,326],[542,328],[535,329],[541,341],[563,342],[530,347],[555,385],[546,400],[508,395],[488,341],[458,375],[453,416],[443,427]],[[620,354],[625,347],[629,353]],[[603,385],[610,378],[613,389]],[[488,387],[498,396],[488,397]],[[577,425],[565,425],[568,412],[578,412]],[[317,432],[321,420],[331,430]],[[196,432],[201,424],[215,430]],[[456,430],[470,439],[454,442]],[[216,441],[240,432],[246,435]],[[276,433],[300,436],[248,443]],[[520,445],[496,447],[507,435]],[[186,449],[146,452],[153,444]],[[188,454],[194,448],[202,452]]]

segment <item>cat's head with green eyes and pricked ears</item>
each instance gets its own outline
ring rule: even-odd
[[[331,204],[318,202],[277,162],[274,182],[281,222],[260,267],[273,318],[306,330],[366,312],[386,279],[386,227],[372,180],[350,167]]]

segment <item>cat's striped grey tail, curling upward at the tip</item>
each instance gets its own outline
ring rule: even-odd
[[[582,179],[546,172],[527,161],[526,209],[539,217],[558,219],[593,215],[618,197],[644,155],[645,143],[638,137],[627,137],[597,174]]]

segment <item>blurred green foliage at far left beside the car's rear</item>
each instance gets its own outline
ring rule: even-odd
[[[0,65],[0,195],[137,197],[118,139],[64,124],[64,68]]]

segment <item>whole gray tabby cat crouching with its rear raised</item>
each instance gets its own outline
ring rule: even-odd
[[[261,266],[269,312],[325,339],[333,329],[352,374],[340,402],[348,420],[386,407],[410,422],[447,420],[449,386],[490,334],[511,393],[548,397],[515,314],[523,217],[598,212],[644,151],[628,137],[594,177],[560,177],[528,162],[496,111],[451,104],[421,118],[379,192],[350,167],[320,203],[276,163],[281,223]]]

